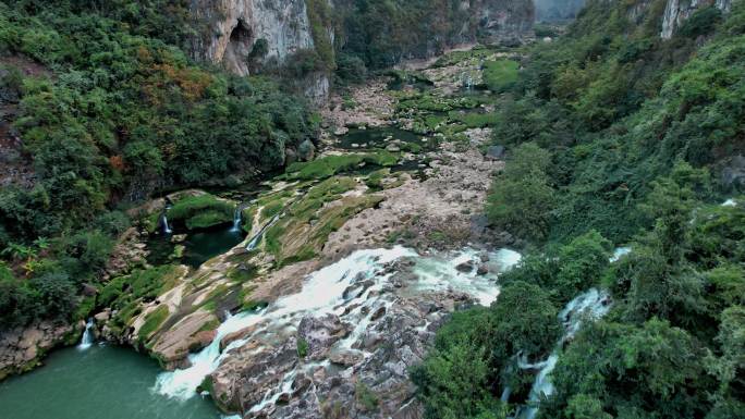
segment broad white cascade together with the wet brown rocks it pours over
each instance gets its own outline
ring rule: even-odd
[[[208,377],[216,403],[244,418],[419,417],[408,367],[449,312],[493,301],[498,273],[518,260],[510,250],[355,251],[266,309],[229,317],[156,390],[188,398]],[[489,273],[456,269],[467,262]]]

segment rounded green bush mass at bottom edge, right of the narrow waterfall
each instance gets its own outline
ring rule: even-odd
[[[571,395],[582,394],[583,409],[611,417],[704,417],[709,406],[705,393],[712,384],[700,362],[704,356],[688,333],[657,319],[640,326],[588,325],[557,365],[557,393],[547,415],[566,404],[577,411],[577,396]]]

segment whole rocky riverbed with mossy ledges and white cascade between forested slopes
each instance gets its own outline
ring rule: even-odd
[[[499,250],[515,243],[481,214],[503,168],[499,155],[484,152],[490,130],[459,122],[485,107],[457,96],[464,69],[479,71],[473,61],[424,70],[419,77],[437,75],[430,90],[390,91],[378,78],[332,97],[317,160],[266,182],[249,201],[191,192],[142,207],[141,229],[127,232],[107,268],[109,284],[94,291],[107,297],[98,298],[107,307],[94,334],[157,358],[169,371],[155,391],[181,399],[209,393],[244,418],[420,417],[408,368],[450,312],[493,301],[499,274],[520,260]],[[432,115],[437,124],[417,131]],[[350,127],[396,124],[410,131],[384,138],[386,150],[341,146]],[[168,226],[168,206],[196,198],[212,211],[234,206],[233,229],[245,239],[187,267],[178,264],[185,236],[175,232],[176,263],[150,267],[147,237]]]

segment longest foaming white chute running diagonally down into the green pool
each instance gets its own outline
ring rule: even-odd
[[[355,251],[310,274],[301,292],[279,298],[260,312],[242,312],[229,317],[218,328],[212,343],[198,354],[188,357],[192,367],[159,374],[155,391],[180,399],[194,396],[195,389],[205,377],[217,369],[222,358],[231,349],[244,345],[247,341],[247,338],[234,341],[220,353],[220,341],[225,335],[257,323],[261,323],[259,330],[266,330],[269,326],[274,330],[295,328],[306,313],[322,316],[333,312],[334,308],[343,303],[344,291],[357,275],[370,276],[383,264],[405,256],[416,256],[416,252],[403,247]]]

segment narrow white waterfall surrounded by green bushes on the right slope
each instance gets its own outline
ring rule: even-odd
[[[596,288],[588,289],[566,304],[566,307],[559,313],[559,319],[564,324],[564,335],[559,340],[553,353],[541,362],[526,363],[524,360],[518,362],[518,367],[522,369],[538,369],[538,374],[530,389],[528,396],[529,405],[518,411],[517,418],[534,419],[538,412],[540,399],[553,394],[554,387],[549,374],[557,367],[559,353],[563,344],[574,337],[579,331],[583,320],[599,319],[606,316],[609,310],[610,299],[608,294],[601,293]]]

